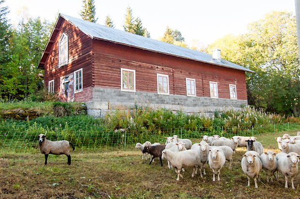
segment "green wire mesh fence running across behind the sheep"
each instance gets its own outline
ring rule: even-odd
[[[193,142],[198,142],[202,136],[219,135],[226,138],[233,136],[255,136],[265,133],[284,133],[288,131],[299,131],[300,124],[284,123],[284,124],[269,124],[262,126],[253,126],[251,128],[241,128],[233,126],[228,128],[223,127],[201,127],[195,129],[174,128],[155,131],[57,131],[57,132],[42,132],[46,134],[47,139],[68,140],[73,143],[77,150],[110,150],[114,148],[127,149],[135,146],[137,142],[144,143],[165,143],[165,137],[177,135],[179,138],[189,138]],[[0,131],[0,154],[3,153],[31,153],[38,151],[38,135],[41,133],[38,129],[20,131]]]

